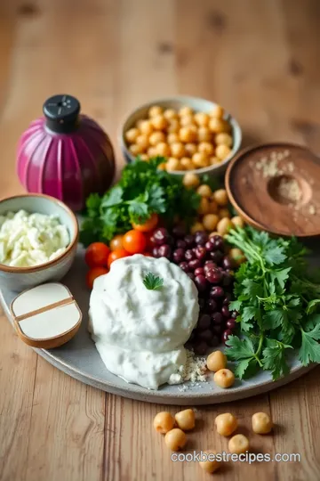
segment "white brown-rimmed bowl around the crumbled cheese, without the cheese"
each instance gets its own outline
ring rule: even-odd
[[[19,292],[29,289],[46,281],[60,281],[68,273],[76,256],[76,245],[79,227],[75,214],[60,200],[44,194],[24,194],[0,200],[0,215],[8,211],[17,212],[20,209],[46,215],[58,215],[60,223],[68,228],[70,243],[60,256],[44,264],[30,267],[12,267],[0,264],[0,289],[5,285],[7,289]]]

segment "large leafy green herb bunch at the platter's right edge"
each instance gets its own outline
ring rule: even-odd
[[[247,257],[236,272],[230,305],[239,313],[241,332],[227,342],[236,376],[263,369],[278,379],[289,371],[293,348],[304,366],[320,363],[320,284],[308,273],[307,250],[295,238],[271,239],[251,227],[230,231],[227,240]]]

